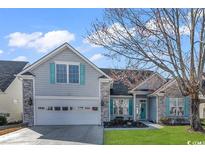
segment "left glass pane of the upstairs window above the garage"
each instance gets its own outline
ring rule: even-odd
[[[56,64],[56,82],[67,83],[67,65]]]

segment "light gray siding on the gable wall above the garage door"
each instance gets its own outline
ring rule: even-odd
[[[85,65],[85,85],[80,84],[50,84],[50,63],[55,61],[79,62]],[[64,49],[53,58],[32,70],[35,75],[35,93],[38,96],[99,96],[99,77],[102,75],[78,55]]]

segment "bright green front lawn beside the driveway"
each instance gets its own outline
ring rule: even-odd
[[[165,126],[155,130],[105,130],[104,144],[186,145],[205,142],[205,134],[189,131],[189,126]]]

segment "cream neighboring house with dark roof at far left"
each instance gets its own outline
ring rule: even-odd
[[[16,77],[28,62],[0,61],[0,115],[8,122],[22,121],[22,81]]]

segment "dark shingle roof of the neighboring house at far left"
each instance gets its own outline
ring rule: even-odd
[[[28,62],[25,61],[0,61],[0,91],[4,92],[9,87],[26,64]]]

